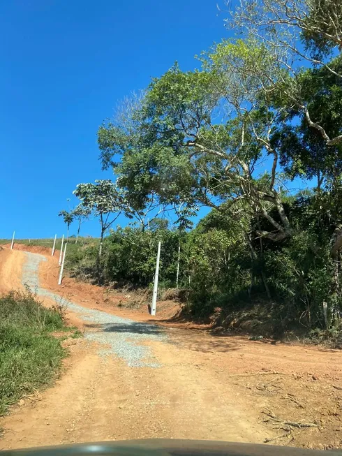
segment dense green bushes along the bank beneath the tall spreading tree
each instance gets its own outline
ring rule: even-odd
[[[257,235],[257,219],[251,219],[246,235],[234,219],[216,209],[181,236],[158,219],[147,230],[113,230],[104,241],[102,281],[115,288],[151,286],[161,240],[161,290],[174,288],[181,240],[179,288],[186,300],[184,311],[193,317],[211,316],[219,308],[220,321],[228,324],[230,316],[239,319],[239,313],[247,311],[248,319],[258,307],[248,331],[280,337],[289,330],[325,329],[322,303],[329,298],[339,307],[339,295],[332,291],[329,247],[334,226],[316,205],[310,194],[288,197],[285,208],[296,230],[277,243]],[[66,267],[75,277],[97,281],[97,255],[97,244],[70,249]],[[329,331],[335,333],[339,320],[332,311],[329,322]]]

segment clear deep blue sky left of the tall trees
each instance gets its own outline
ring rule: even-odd
[[[228,36],[223,17],[216,0],[1,1],[0,237],[61,235],[76,184],[112,176],[98,161],[103,119],[175,60],[193,68]]]

